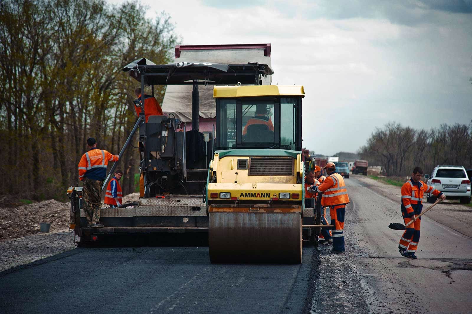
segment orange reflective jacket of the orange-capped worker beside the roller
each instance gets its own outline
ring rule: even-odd
[[[336,172],[326,177],[323,183],[318,186],[318,190],[323,192],[321,197],[323,207],[349,203],[343,176]]]

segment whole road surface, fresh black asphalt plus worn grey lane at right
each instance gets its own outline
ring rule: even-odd
[[[425,217],[419,258],[404,258],[388,229],[399,204],[355,176],[346,185],[345,255],[211,264],[198,243],[76,248],[0,273],[0,313],[470,313],[472,239]]]

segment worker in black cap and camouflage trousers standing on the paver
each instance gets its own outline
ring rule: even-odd
[[[112,155],[104,149],[97,149],[97,141],[87,140],[88,151],[79,162],[79,179],[84,182],[83,208],[87,227],[100,228],[101,186],[107,175],[108,161],[118,161],[118,155]]]

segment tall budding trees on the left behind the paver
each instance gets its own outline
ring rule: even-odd
[[[142,57],[169,63],[178,43],[170,17],[147,10],[137,1],[0,0],[0,195],[64,198],[79,183],[88,137],[119,153],[139,86],[121,68]],[[160,103],[164,91],[154,90]],[[125,194],[138,166],[130,147],[118,164]]]

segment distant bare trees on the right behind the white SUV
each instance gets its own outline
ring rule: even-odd
[[[369,165],[381,165],[386,175],[410,175],[416,166],[424,174],[430,174],[436,165],[472,168],[472,123],[417,130],[389,122],[375,128],[359,154]]]

